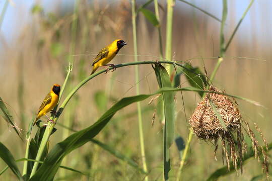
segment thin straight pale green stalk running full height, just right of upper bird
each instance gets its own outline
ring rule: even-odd
[[[131,12],[132,12],[132,29],[133,29],[134,54],[138,55],[135,0],[131,0]],[[134,61],[138,62],[138,56],[134,56]],[[139,68],[138,68],[138,65],[135,65],[135,83],[136,83],[136,94],[140,95]],[[143,169],[144,169],[145,172],[148,172],[147,171],[147,162],[146,162],[146,153],[145,153],[142,110],[141,110],[141,103],[140,102],[137,102],[137,110],[138,110],[139,136],[140,136],[141,157],[142,157],[142,161],[143,161]],[[148,181],[148,176],[145,177],[145,180]]]

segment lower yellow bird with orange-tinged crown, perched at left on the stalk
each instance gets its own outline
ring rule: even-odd
[[[54,107],[57,105],[57,102],[58,102],[59,92],[60,92],[60,85],[54,84],[50,93],[48,93],[48,95],[44,98],[44,100],[40,106],[39,112],[37,114],[37,117],[33,123],[33,126],[40,119],[40,117],[46,116],[46,113],[48,113],[50,110],[54,109]],[[46,118],[51,123],[55,123],[53,120],[51,120],[47,116],[46,116]]]

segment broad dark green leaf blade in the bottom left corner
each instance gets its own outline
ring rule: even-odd
[[[11,168],[11,170],[19,178],[19,180],[23,180],[23,177],[21,175],[20,170],[17,167],[13,155],[2,142],[0,142],[0,157],[7,163],[7,165]]]

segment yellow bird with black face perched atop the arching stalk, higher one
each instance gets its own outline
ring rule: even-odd
[[[114,64],[107,63],[109,63],[115,57],[115,55],[124,45],[126,45],[126,43],[123,40],[118,39],[114,40],[110,45],[103,48],[94,59],[93,62],[94,68],[91,74],[93,74],[100,66],[106,68],[107,70],[106,73],[109,72],[109,69],[106,66],[113,67],[112,71],[114,71],[115,70]]]

